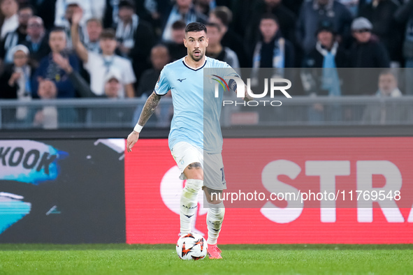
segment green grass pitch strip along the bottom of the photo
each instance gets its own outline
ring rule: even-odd
[[[0,274],[413,274],[413,245],[222,245],[222,260],[175,246],[0,244]]]

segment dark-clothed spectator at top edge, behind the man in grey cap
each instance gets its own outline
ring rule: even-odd
[[[372,23],[372,34],[389,52],[393,67],[400,67],[402,61],[403,27],[394,17],[399,4],[394,0],[373,0],[359,8],[358,16]]]

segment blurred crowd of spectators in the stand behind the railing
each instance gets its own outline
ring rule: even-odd
[[[233,68],[303,68],[302,95],[413,94],[413,0],[1,0],[0,99],[148,96],[189,22]],[[343,89],[335,68],[393,68],[404,89],[361,70],[375,87]]]

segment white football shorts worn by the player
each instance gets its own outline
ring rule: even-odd
[[[180,169],[180,179],[187,179],[184,170],[191,163],[201,163],[203,169],[203,185],[214,189],[226,189],[224,174],[224,163],[222,154],[208,154],[203,149],[196,147],[188,142],[177,142],[171,150],[171,154]],[[205,157],[205,161],[204,161]]]

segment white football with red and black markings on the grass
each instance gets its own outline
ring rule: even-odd
[[[176,253],[182,260],[201,260],[205,258],[207,249],[205,239],[196,233],[182,235],[176,244]]]

